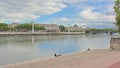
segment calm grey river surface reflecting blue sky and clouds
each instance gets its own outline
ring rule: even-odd
[[[109,48],[110,35],[0,36],[0,66],[70,54],[87,48]]]

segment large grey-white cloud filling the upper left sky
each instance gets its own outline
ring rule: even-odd
[[[61,11],[61,0],[0,0],[0,20],[20,22]]]

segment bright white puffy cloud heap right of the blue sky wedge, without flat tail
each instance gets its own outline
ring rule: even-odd
[[[94,8],[87,8],[79,12],[79,17],[89,22],[114,22],[114,15],[106,15],[94,11]]]

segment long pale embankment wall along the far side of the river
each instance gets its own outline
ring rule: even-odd
[[[0,35],[81,35],[84,32],[0,32]]]

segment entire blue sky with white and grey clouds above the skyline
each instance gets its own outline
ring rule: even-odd
[[[113,28],[114,0],[0,0],[0,22]]]

